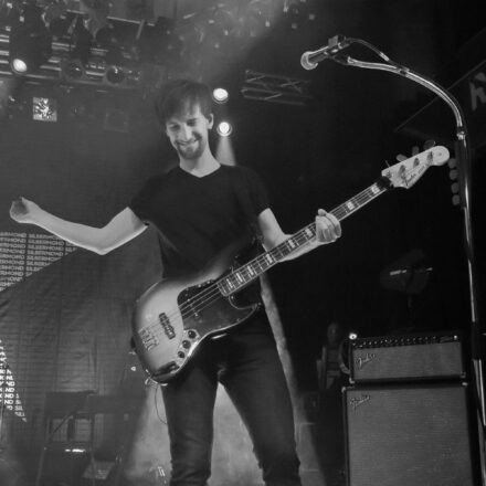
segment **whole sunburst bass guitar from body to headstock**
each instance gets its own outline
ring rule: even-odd
[[[381,172],[381,178],[331,211],[348,218],[390,188],[411,188],[431,166],[450,158],[445,147],[432,147]],[[242,305],[236,295],[264,272],[309,243],[316,235],[310,223],[274,249],[243,265],[235,265],[241,243],[225,249],[201,272],[162,279],[136,302],[133,319],[135,350],[148,376],[165,383],[188,364],[209,337],[244,323],[260,304]]]

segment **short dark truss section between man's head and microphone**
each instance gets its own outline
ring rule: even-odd
[[[246,70],[241,93],[246,99],[304,106],[313,97],[309,81]]]

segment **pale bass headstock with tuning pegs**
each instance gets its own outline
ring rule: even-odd
[[[399,163],[388,167],[381,175],[390,180],[394,188],[410,189],[431,166],[442,166],[450,158],[445,147],[432,147]]]

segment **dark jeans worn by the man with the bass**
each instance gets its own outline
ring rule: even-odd
[[[267,324],[244,326],[202,344],[187,369],[162,389],[171,486],[203,486],[210,477],[218,381],[249,430],[265,484],[300,485],[290,398],[273,335]]]

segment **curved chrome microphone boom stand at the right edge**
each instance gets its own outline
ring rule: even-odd
[[[358,61],[350,56],[342,54],[329,55],[328,57],[336,61],[339,64],[353,67],[362,67],[364,70],[378,70],[387,71],[401,77],[406,77],[441,97],[452,109],[456,124],[456,141],[455,141],[455,156],[457,160],[458,169],[458,183],[461,192],[461,208],[464,215],[464,247],[467,260],[467,274],[468,274],[468,287],[469,287],[469,308],[471,308],[471,357],[473,361],[473,380],[476,388],[477,397],[477,418],[479,421],[479,454],[480,454],[480,473],[482,485],[486,486],[486,466],[485,466],[485,425],[486,425],[486,405],[485,405],[485,382],[484,382],[484,339],[479,323],[479,308],[477,303],[477,278],[476,278],[476,265],[474,253],[474,237],[473,237],[473,223],[472,223],[472,159],[469,151],[469,137],[467,134],[464,113],[458,102],[447,91],[436,82],[410,70],[406,66],[400,65],[390,60],[384,53],[379,51],[369,42],[360,39],[348,39],[349,43],[358,43],[369,47],[378,56],[380,56],[385,63]]]

